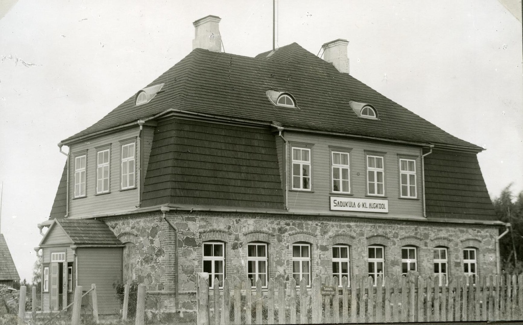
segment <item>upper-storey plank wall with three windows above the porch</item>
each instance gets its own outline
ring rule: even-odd
[[[121,142],[123,140],[138,138],[139,127],[131,130],[123,131],[117,134],[112,134],[96,139],[91,139],[86,142],[78,143],[71,146],[70,159],[70,216],[76,218],[79,216],[106,214],[120,211],[129,211],[134,209],[139,204],[139,188],[141,185],[138,177],[140,169],[140,148],[136,147],[136,185],[137,188],[129,190],[120,190],[120,163],[121,163]],[[143,141],[144,147],[151,141]],[[110,146],[110,192],[107,194],[96,195],[96,152],[98,147]],[[86,197],[74,198],[74,157],[78,152],[85,152],[87,150],[87,166],[86,166]],[[144,150],[149,152],[150,148]]]

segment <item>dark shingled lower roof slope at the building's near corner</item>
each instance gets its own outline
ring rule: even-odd
[[[274,135],[183,119],[158,123],[142,207],[165,203],[283,209]]]

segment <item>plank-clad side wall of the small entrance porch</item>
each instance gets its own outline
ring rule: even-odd
[[[89,290],[91,284],[96,284],[100,314],[117,314],[120,309],[120,300],[112,285],[122,281],[121,254],[120,247],[77,248],[77,285],[81,285],[83,290]]]

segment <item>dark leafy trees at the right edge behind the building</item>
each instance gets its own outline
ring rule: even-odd
[[[502,269],[517,274],[523,272],[523,192],[514,197],[511,186],[505,187],[492,203],[498,219],[511,225],[510,232],[499,239]]]

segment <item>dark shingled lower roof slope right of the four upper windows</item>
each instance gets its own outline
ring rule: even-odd
[[[425,157],[427,218],[497,220],[474,153],[434,150]]]

